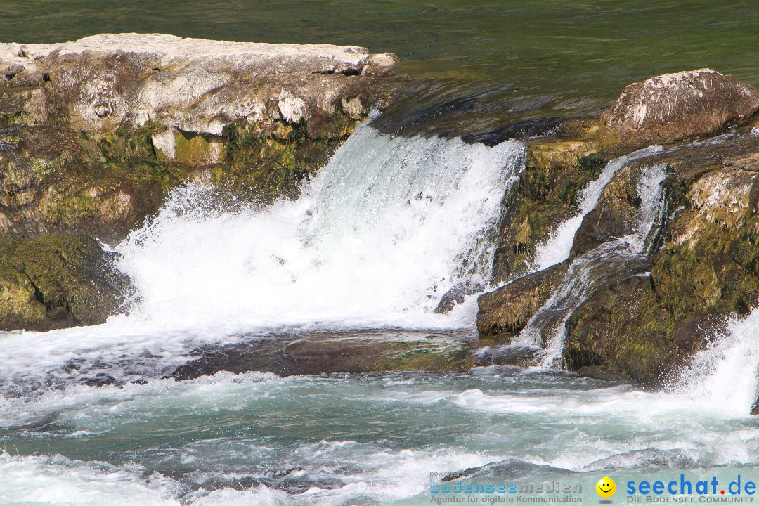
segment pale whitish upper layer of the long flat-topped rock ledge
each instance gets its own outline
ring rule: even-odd
[[[232,122],[298,123],[345,109],[364,115],[370,76],[395,55],[357,46],[264,44],[118,33],[59,44],[0,44],[6,86],[50,83],[86,131],[139,127],[221,135]],[[167,147],[171,154],[171,146]]]

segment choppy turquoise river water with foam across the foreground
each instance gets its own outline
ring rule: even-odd
[[[492,367],[78,386],[8,401],[0,420],[2,504],[430,504],[439,476],[486,464],[464,482],[559,480],[593,504],[602,476],[622,502],[631,480],[759,470],[751,417]]]

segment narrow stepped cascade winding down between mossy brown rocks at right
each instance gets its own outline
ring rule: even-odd
[[[556,366],[564,350],[566,322],[591,291],[611,279],[644,274],[647,237],[663,212],[661,183],[665,177],[666,165],[654,165],[641,171],[636,187],[641,206],[635,232],[606,241],[574,259],[559,288],[534,314],[511,346],[538,348],[541,350],[540,366]],[[571,240],[569,244],[571,247]]]

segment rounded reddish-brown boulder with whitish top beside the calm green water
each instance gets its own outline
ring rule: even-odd
[[[716,134],[759,110],[759,91],[710,68],[632,83],[601,116],[625,144],[670,143]]]

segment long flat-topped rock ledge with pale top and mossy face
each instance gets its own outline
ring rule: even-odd
[[[135,33],[0,44],[0,234],[115,243],[188,180],[295,196],[389,99],[396,59]]]

